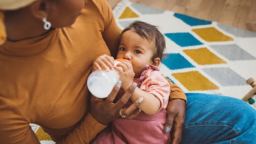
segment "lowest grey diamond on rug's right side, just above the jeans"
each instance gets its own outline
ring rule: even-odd
[[[222,86],[246,85],[246,80],[230,68],[204,68],[202,70]]]

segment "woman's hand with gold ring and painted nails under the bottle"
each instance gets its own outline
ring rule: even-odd
[[[133,94],[135,88],[137,87],[136,83],[133,83],[128,90],[125,92],[123,97],[119,99],[116,103],[113,103],[117,92],[121,87],[121,81],[115,85],[112,92],[108,95],[105,101],[99,99],[92,95],[91,97],[91,115],[96,119],[98,122],[102,124],[107,124],[108,122],[113,121],[117,117],[120,116],[119,112],[126,104],[126,102],[130,99],[131,95]],[[133,112],[143,101],[143,98],[138,98],[131,106],[126,109],[122,110],[122,115],[125,115],[126,118],[134,118],[139,113]]]

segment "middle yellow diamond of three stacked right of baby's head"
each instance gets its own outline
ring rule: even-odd
[[[213,54],[206,47],[200,49],[183,50],[191,59],[193,59],[198,65],[213,65],[220,63],[227,63],[215,54]]]

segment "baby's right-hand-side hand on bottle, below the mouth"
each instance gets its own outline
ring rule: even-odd
[[[123,69],[122,69],[123,68]],[[122,81],[122,87],[124,91],[133,84],[134,72],[132,64],[130,63],[119,63],[116,65],[115,70],[120,76],[120,81]]]

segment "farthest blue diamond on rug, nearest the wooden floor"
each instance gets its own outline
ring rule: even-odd
[[[212,23],[211,21],[201,20],[201,19],[198,19],[198,18],[193,18],[191,16],[187,16],[187,15],[184,15],[184,14],[175,13],[174,16],[176,18],[179,18],[180,20],[182,20],[183,22],[187,23],[190,26],[209,25],[209,24]]]

